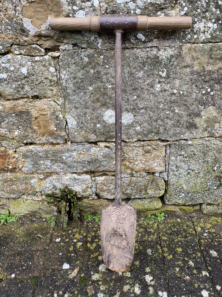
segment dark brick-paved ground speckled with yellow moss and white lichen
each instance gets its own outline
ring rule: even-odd
[[[26,219],[2,225],[0,238],[0,297],[222,297],[220,217],[139,220],[125,273],[104,266],[99,223],[70,222],[62,233]]]

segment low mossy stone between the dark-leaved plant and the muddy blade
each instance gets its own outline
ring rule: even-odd
[[[110,206],[113,201],[105,200],[105,199],[83,199],[80,203],[80,214],[84,216],[85,214],[99,214],[102,209],[107,206]]]

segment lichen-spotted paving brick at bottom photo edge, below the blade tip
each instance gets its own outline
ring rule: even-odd
[[[95,282],[88,280],[79,286],[78,297],[123,297],[123,277]],[[125,296],[125,295],[124,295]]]

